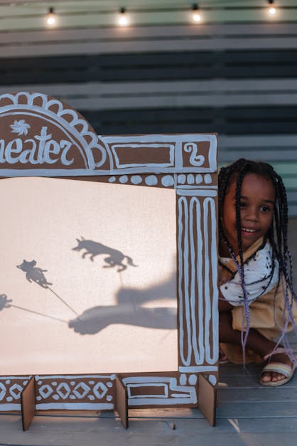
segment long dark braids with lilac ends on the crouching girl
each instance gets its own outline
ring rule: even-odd
[[[237,270],[239,272],[240,282],[242,286],[242,292],[244,297],[244,307],[243,307],[243,321],[242,327],[246,325],[246,331],[244,334],[244,329],[242,328],[242,349],[243,355],[245,351],[245,346],[247,343],[247,336],[249,334],[249,302],[247,297],[247,289],[246,283],[244,281],[244,260],[243,260],[243,252],[242,252],[242,232],[241,232],[241,219],[240,219],[240,202],[241,202],[241,190],[242,190],[242,181],[244,176],[247,174],[256,174],[257,176],[261,176],[265,179],[269,179],[274,185],[274,190],[276,193],[276,201],[274,204],[274,216],[271,222],[271,226],[266,234],[266,239],[269,240],[272,249],[272,272],[271,278],[274,273],[274,269],[276,267],[276,261],[279,262],[279,280],[278,285],[276,287],[276,292],[279,289],[279,286],[283,288],[284,291],[284,316],[282,321],[282,326],[279,327],[281,331],[281,338],[279,339],[278,344],[281,339],[284,339],[286,328],[289,322],[292,322],[294,329],[296,330],[296,326],[293,322],[293,316],[291,312],[291,308],[293,305],[293,299],[296,299],[295,292],[293,290],[293,280],[292,280],[292,257],[291,253],[288,250],[288,202],[286,196],[286,188],[284,186],[283,180],[281,176],[276,174],[273,167],[262,161],[251,161],[247,159],[238,159],[234,161],[233,164],[230,164],[227,167],[222,167],[219,173],[219,193],[218,193],[218,206],[219,206],[219,239],[222,243],[227,245],[229,250],[229,254],[232,257],[235,265],[237,266]],[[229,241],[224,232],[224,228],[222,225],[222,215],[223,215],[223,205],[226,193],[229,189],[229,186],[236,181],[235,188],[235,210],[236,210],[236,226],[237,226],[237,242],[238,242],[238,253],[239,260],[237,260],[237,256],[234,253],[232,245],[230,245]],[[256,282],[254,282],[256,283]],[[266,285],[266,287],[268,287]],[[276,293],[275,293],[276,295]],[[285,340],[286,341],[286,340]],[[245,355],[244,355],[245,357]]]

